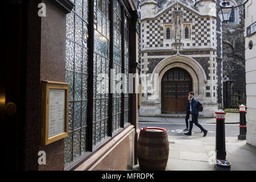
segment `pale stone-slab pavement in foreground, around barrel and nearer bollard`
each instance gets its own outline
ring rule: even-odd
[[[169,136],[169,157],[166,171],[216,171],[215,137]],[[230,171],[256,171],[256,147],[246,140],[226,137],[226,160]],[[140,171],[139,165],[133,171]]]

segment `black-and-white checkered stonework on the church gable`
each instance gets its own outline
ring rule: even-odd
[[[156,19],[146,20],[142,22],[142,42],[143,48],[164,47],[164,28],[163,24],[172,23],[172,15],[174,11],[183,11],[183,24],[192,23],[191,30],[191,46],[210,46],[210,18],[200,17],[197,14],[180,6],[178,8],[171,7],[166,12],[158,16]],[[214,28],[214,27],[213,27]],[[169,46],[169,45],[168,45]]]

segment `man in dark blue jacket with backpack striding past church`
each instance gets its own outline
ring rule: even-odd
[[[205,130],[204,127],[198,123],[198,116],[199,116],[199,111],[197,107],[198,102],[194,96],[195,94],[193,92],[189,92],[188,97],[190,98],[190,111],[191,111],[189,117],[190,118],[192,117],[192,121],[189,121],[189,131],[188,133],[185,133],[185,135],[192,135],[193,123],[195,123],[195,125],[199,127],[201,131],[204,132],[204,137],[206,137],[208,131]]]

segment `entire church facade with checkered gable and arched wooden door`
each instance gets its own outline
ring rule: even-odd
[[[220,0],[142,0],[139,114],[185,113],[188,92],[214,117],[222,104]]]

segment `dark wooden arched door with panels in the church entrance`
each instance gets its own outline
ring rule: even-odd
[[[164,74],[161,87],[162,113],[186,113],[188,93],[193,88],[189,73],[181,68],[172,68]]]

